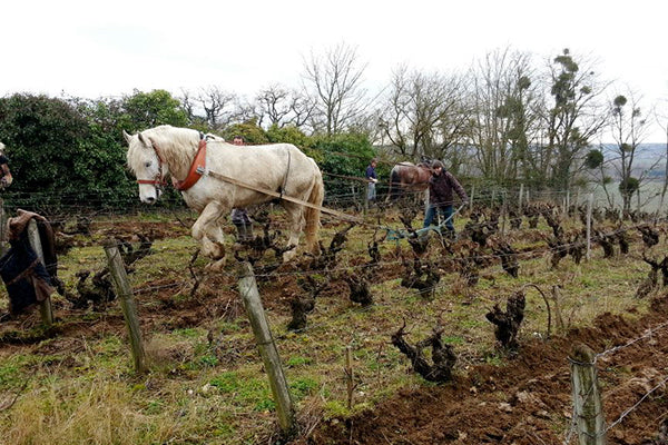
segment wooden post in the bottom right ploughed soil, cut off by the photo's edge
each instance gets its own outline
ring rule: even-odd
[[[570,356],[573,416],[580,445],[606,445],[606,419],[593,352],[576,345]]]

